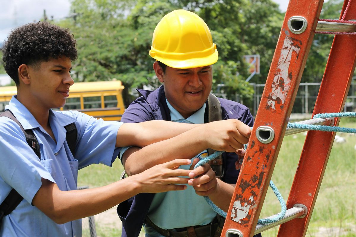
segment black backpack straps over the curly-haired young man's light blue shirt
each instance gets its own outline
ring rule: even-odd
[[[23,126],[19,122],[19,120],[16,119],[14,114],[10,111],[7,110],[3,113],[0,114],[0,117],[7,117],[13,120],[15,123],[19,124],[21,130],[23,131],[23,134],[25,135],[26,141],[28,146],[32,148],[32,150],[36,153],[37,157],[41,160],[41,151],[40,151],[40,146],[38,145],[37,138],[35,134],[33,134],[32,129],[23,129]],[[77,127],[75,126],[75,123],[68,124],[67,126],[64,126],[66,129],[66,140],[67,144],[69,146],[70,152],[72,152],[74,156],[75,152],[75,144],[77,142]],[[6,196],[5,200],[0,204],[0,230],[1,230],[1,223],[2,223],[2,218],[6,215],[9,215],[22,201],[23,197],[17,193],[15,189],[11,189],[10,193]]]

